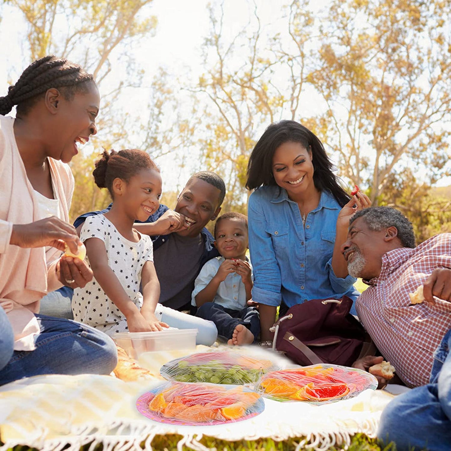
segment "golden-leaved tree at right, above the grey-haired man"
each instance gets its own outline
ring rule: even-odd
[[[373,204],[408,166],[428,185],[449,175],[450,14],[449,1],[336,0],[321,26],[308,80],[326,107],[309,124]]]

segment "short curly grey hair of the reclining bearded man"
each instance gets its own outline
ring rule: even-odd
[[[415,234],[412,223],[396,208],[368,207],[359,210],[349,220],[349,225],[363,217],[370,230],[380,231],[388,227],[396,227],[398,238],[405,248],[415,247]]]

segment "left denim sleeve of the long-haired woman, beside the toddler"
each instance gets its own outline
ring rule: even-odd
[[[265,230],[263,205],[256,192],[249,197],[248,218],[249,252],[254,275],[252,299],[260,304],[278,306],[282,300],[281,272],[271,235]]]

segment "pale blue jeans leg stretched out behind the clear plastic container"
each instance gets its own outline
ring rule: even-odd
[[[215,323],[212,321],[187,315],[173,308],[165,307],[160,303],[156,304],[155,315],[159,321],[166,322],[170,327],[197,329],[196,345],[211,346],[218,337],[218,331]]]

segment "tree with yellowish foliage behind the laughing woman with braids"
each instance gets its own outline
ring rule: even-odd
[[[177,97],[168,87],[168,74],[161,69],[150,85],[143,87],[144,71],[137,67],[129,52],[130,46],[137,46],[144,37],[155,33],[152,0],[3,0],[1,3],[23,14],[28,26],[29,60],[51,53],[69,58],[92,73],[101,90],[100,133],[90,140],[96,150],[71,162],[76,184],[71,217],[108,202],[108,195],[92,179],[94,161],[102,148],[140,148],[156,159],[174,152],[189,140],[195,124],[180,114]],[[119,105],[125,96],[133,95],[133,89],[143,90],[141,104],[124,111]],[[144,119],[141,111],[147,95],[149,113]],[[173,119],[169,124],[168,114]]]

